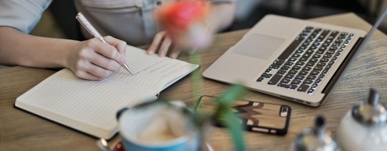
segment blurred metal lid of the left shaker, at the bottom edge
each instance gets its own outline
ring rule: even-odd
[[[322,116],[316,118],[315,126],[305,129],[295,141],[296,150],[336,150],[337,144],[330,137],[330,132],[325,130],[325,119]]]

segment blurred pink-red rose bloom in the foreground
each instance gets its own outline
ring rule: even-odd
[[[156,14],[176,45],[183,49],[195,49],[211,43],[208,12],[209,6],[197,0],[165,4]]]

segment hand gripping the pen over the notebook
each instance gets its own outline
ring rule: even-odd
[[[87,80],[102,80],[126,63],[126,42],[106,36],[105,44],[97,38],[73,45],[67,56],[66,67],[76,76]]]

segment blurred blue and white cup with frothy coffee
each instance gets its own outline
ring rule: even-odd
[[[198,150],[199,132],[182,102],[147,103],[117,112],[125,150]]]

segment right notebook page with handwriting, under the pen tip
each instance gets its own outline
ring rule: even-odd
[[[133,46],[127,46],[126,60],[136,75],[133,76],[121,68],[109,78],[157,92],[162,91],[170,81],[176,81],[199,67],[178,59],[159,57],[157,54],[149,55],[145,50]]]

